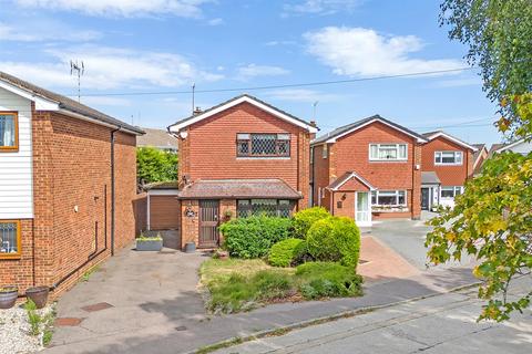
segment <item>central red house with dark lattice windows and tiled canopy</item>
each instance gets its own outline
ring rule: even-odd
[[[182,246],[216,247],[231,217],[308,206],[313,124],[245,94],[168,131],[178,138]]]

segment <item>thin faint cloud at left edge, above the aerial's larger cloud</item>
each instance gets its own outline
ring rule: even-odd
[[[102,33],[92,30],[78,31],[54,21],[28,21],[24,25],[0,22],[0,41],[43,42],[43,41],[93,41]]]

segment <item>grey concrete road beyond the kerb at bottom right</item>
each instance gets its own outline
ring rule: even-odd
[[[532,278],[521,278],[512,294],[525,294]],[[219,350],[244,353],[523,353],[532,347],[532,309],[510,321],[477,323],[481,301],[475,290],[462,290],[294,330]]]

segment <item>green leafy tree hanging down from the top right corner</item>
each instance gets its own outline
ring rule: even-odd
[[[469,45],[466,59],[480,66],[488,97],[501,103],[501,132],[529,135],[530,121],[505,101],[531,90],[532,1],[443,0],[440,25],[450,25],[449,38]]]

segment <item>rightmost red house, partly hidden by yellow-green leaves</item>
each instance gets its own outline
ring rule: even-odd
[[[444,132],[423,136],[429,142],[421,154],[421,208],[453,207],[454,197],[463,192],[466,180],[473,176],[478,148]]]

